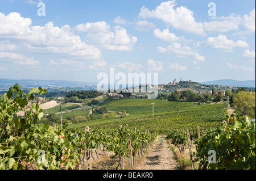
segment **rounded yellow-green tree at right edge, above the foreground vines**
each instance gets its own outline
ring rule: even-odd
[[[234,96],[234,103],[241,116],[255,117],[255,92],[239,91]]]

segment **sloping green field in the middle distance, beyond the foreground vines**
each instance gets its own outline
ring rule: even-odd
[[[154,104],[154,117],[152,117],[152,104]],[[110,111],[130,113],[124,118],[90,120],[85,123],[69,125],[69,128],[92,129],[118,128],[120,124],[128,124],[131,129],[141,130],[149,128],[151,131],[168,132],[172,129],[202,129],[215,128],[225,119],[225,104],[195,105],[190,102],[167,102],[158,99],[121,99],[102,103]]]

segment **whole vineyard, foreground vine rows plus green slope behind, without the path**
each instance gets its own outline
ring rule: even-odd
[[[143,105],[152,101],[143,100],[134,110],[127,108],[129,104],[118,108],[126,106],[131,116],[91,120],[86,127],[76,124],[77,128],[68,123],[62,128],[38,124],[43,110],[34,102],[24,117],[14,117],[15,112],[24,110],[28,100],[34,100],[35,94],[45,92],[39,87],[26,94],[15,85],[0,98],[0,169],[91,170],[93,153],[99,157],[100,150],[112,159],[118,158],[116,170],[125,168],[125,157],[135,169],[135,158],[145,155],[159,133],[166,133],[166,140],[181,155],[185,146],[189,147],[191,169],[196,169],[195,163],[198,169],[255,169],[255,122],[239,114],[225,118],[223,105],[209,105],[209,109],[191,103],[176,107],[163,103],[159,107],[164,112],[139,117],[147,109]],[[195,153],[191,146],[196,146]],[[213,153],[213,159],[209,159],[209,153]]]

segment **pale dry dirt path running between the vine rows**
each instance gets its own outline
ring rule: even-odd
[[[160,136],[158,145],[151,150],[138,170],[176,170],[177,162],[168,146],[164,136]]]

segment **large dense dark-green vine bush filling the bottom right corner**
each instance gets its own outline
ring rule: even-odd
[[[255,170],[255,122],[247,117],[230,117],[223,124],[201,134],[196,144],[199,169]],[[216,163],[208,163],[208,151],[216,151]]]

